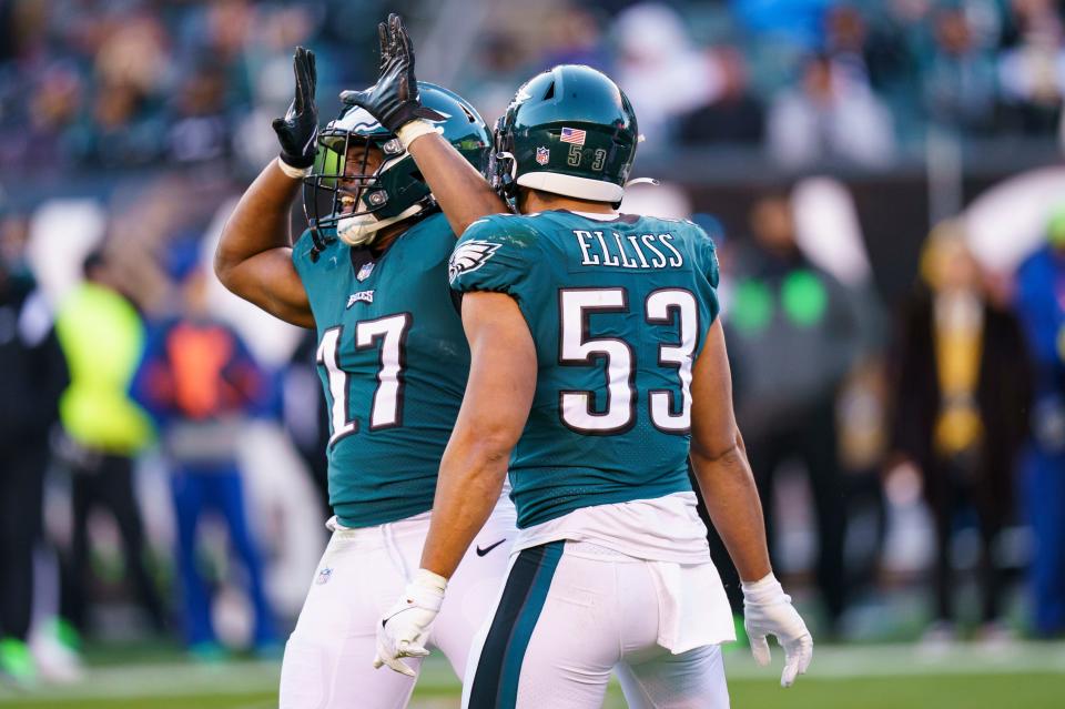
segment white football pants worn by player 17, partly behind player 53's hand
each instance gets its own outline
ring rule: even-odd
[[[375,627],[419,566],[429,513],[362,529],[337,528],[331,520],[331,529],[285,646],[281,709],[403,709],[415,680],[373,668]],[[504,497],[447,586],[429,645],[458,677],[499,596],[514,537],[514,505]],[[403,661],[420,668],[416,658]]]

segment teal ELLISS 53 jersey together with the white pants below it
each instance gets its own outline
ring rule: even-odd
[[[537,368],[510,458],[520,553],[467,706],[531,707],[559,682],[552,707],[598,707],[613,668],[630,706],[727,706],[732,616],[687,467],[713,243],[688,222],[545,211],[474,223],[452,264],[457,291],[514,300]],[[566,652],[575,635],[585,650]]]

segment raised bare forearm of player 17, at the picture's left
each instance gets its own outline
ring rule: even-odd
[[[226,287],[233,290],[234,271],[245,261],[292,245],[290,211],[300,185],[272,160],[241,196],[214,254],[214,272]]]

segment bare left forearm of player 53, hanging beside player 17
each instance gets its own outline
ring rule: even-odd
[[[509,450],[493,449],[490,444],[448,445],[422,568],[452,577],[499,499],[508,459]]]

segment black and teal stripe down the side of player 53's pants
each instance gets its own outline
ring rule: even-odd
[[[468,709],[514,709],[529,639],[544,610],[566,541],[524,549],[507,576],[477,660]]]

